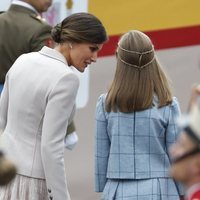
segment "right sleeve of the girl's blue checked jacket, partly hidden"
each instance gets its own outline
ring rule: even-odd
[[[167,154],[171,160],[170,157],[170,147],[171,145],[178,139],[178,136],[180,134],[180,131],[178,130],[177,125],[177,118],[180,117],[181,110],[179,106],[179,102],[177,98],[173,98],[172,104],[169,107],[169,119],[168,119],[168,126],[166,131],[166,145],[167,145]],[[184,187],[181,185],[181,183],[175,181],[177,190],[179,192],[179,195],[184,195]]]

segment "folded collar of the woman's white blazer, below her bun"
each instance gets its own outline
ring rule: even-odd
[[[45,55],[45,56],[48,56],[50,58],[53,58],[53,59],[56,59],[56,60],[59,60],[60,62],[67,64],[67,61],[65,59],[65,57],[57,50],[55,49],[52,49],[52,48],[49,48],[47,46],[44,46],[40,51],[39,51],[40,54],[42,55]]]

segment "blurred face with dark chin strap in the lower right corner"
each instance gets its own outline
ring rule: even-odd
[[[182,133],[171,146],[171,175],[186,187],[200,182],[200,150],[186,133]]]

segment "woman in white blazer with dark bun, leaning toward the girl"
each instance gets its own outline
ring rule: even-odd
[[[52,29],[54,49],[23,54],[6,75],[0,100],[1,141],[17,175],[2,200],[69,200],[64,139],[84,72],[107,40],[94,15],[76,13]]]

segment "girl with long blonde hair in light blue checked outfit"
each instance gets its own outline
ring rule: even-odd
[[[124,34],[116,57],[96,107],[96,191],[103,200],[178,200],[181,187],[169,175],[178,101],[147,35]]]

